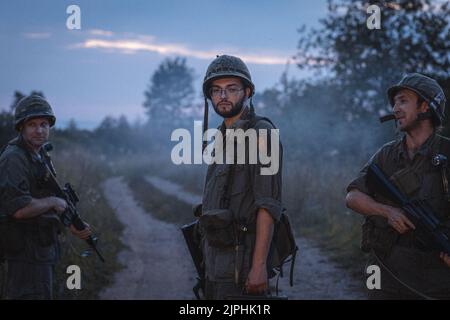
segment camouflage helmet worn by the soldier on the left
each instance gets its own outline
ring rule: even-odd
[[[53,114],[50,104],[41,96],[33,94],[23,97],[17,102],[14,114],[15,128],[20,130],[20,126],[28,119],[45,117],[50,121],[50,127],[53,127],[56,118]]]

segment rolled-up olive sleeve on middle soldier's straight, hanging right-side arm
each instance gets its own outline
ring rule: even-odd
[[[267,129],[267,143],[261,141],[259,137],[259,146],[266,145],[267,154],[271,158],[271,163],[262,164],[259,160],[256,165],[251,166],[252,175],[252,187],[253,194],[255,196],[255,206],[257,209],[266,209],[275,221],[278,221],[283,209],[281,202],[281,190],[282,190],[282,160],[283,160],[283,148],[279,139],[276,137],[274,141],[271,139],[271,129],[273,127],[267,121],[259,121],[255,129]],[[272,143],[277,143],[278,148],[273,148]],[[278,149],[278,152],[275,152]],[[277,153],[277,154],[276,154]],[[261,169],[273,166],[273,161],[277,161],[276,167],[278,170],[274,174],[263,175]]]

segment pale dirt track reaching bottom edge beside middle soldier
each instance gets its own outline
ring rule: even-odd
[[[125,227],[121,240],[128,249],[119,254],[126,268],[100,298],[193,299],[194,267],[179,229],[138,206],[121,178],[107,180],[103,190]]]

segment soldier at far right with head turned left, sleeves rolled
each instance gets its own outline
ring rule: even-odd
[[[347,206],[365,216],[362,249],[372,253],[369,263],[381,268],[381,289],[370,290],[369,297],[448,299],[448,257],[419,243],[405,212],[367,185],[367,169],[374,163],[407,197],[427,200],[441,222],[450,227],[447,168],[432,161],[439,154],[450,159],[450,140],[437,134],[445,95],[434,79],[414,73],[389,88],[388,98],[392,118],[403,136],[372,156],[348,186],[346,197]]]

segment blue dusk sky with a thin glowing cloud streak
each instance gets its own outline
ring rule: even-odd
[[[81,29],[66,22],[80,8]],[[92,129],[107,115],[145,120],[144,91],[158,65],[183,56],[200,97],[217,54],[241,57],[257,91],[283,71],[305,76],[291,57],[297,29],[317,27],[326,0],[3,1],[0,10],[0,108],[14,91],[43,91],[64,127]]]

